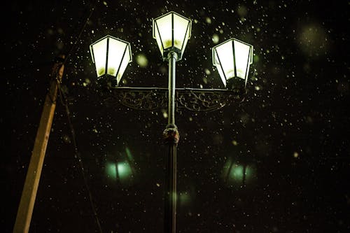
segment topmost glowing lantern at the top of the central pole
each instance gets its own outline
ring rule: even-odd
[[[153,38],[157,41],[162,56],[176,52],[181,59],[190,38],[191,20],[175,12],[169,12],[153,20]]]

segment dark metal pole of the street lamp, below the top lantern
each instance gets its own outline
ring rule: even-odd
[[[165,232],[176,232],[176,146],[179,143],[179,131],[175,125],[175,64],[176,52],[169,52],[168,85],[168,125],[163,132],[168,144],[167,184],[165,194]]]

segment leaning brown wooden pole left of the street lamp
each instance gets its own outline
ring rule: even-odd
[[[62,55],[60,58],[64,59],[64,56]],[[52,67],[50,90],[45,97],[43,113],[41,113],[38,132],[36,132],[34,148],[31,152],[31,159],[29,162],[27,176],[25,178],[25,186],[22,191],[22,197],[20,199],[20,206],[18,207],[13,233],[27,233],[29,231],[31,214],[33,213],[36,198],[36,191],[38,190],[46,146],[48,145],[48,137],[50,136],[52,119],[56,108],[57,82],[62,80],[63,71],[64,65],[62,62],[56,62]]]

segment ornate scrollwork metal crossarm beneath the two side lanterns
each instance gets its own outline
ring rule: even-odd
[[[168,90],[158,87],[115,87],[112,97],[127,108],[155,111],[167,108]],[[176,110],[210,112],[243,100],[241,90],[176,88]]]

